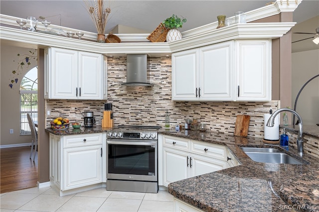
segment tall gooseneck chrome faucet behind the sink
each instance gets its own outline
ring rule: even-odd
[[[266,126],[274,126],[276,115],[278,115],[282,111],[289,111],[289,112],[294,113],[299,120],[299,124],[298,124],[299,125],[299,132],[298,132],[298,137],[297,137],[297,150],[298,150],[298,155],[302,157],[304,155],[303,120],[298,112],[296,112],[293,109],[289,109],[289,108],[280,108],[280,109],[276,110],[269,117]]]

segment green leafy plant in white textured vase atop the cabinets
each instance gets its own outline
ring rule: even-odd
[[[169,29],[166,35],[166,42],[179,40],[181,38],[181,33],[179,32],[178,28],[181,28],[183,23],[186,21],[186,18],[180,18],[173,14],[171,17],[166,18],[162,22],[162,24]]]

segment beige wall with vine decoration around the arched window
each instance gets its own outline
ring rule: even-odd
[[[31,49],[1,44],[0,76],[1,76],[1,135],[0,145],[30,143],[31,135],[20,136],[20,82],[24,75],[37,65],[37,61],[30,58],[30,66],[24,65],[21,72],[12,74],[17,70],[18,62],[24,54],[30,54]],[[17,54],[20,56],[17,56]],[[36,53],[37,54],[37,53]],[[10,81],[18,79],[18,83],[13,83],[12,89],[9,87]],[[13,129],[13,134],[9,134],[9,129]]]

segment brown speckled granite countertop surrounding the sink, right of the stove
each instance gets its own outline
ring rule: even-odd
[[[226,145],[241,162],[236,167],[169,184],[168,192],[186,203],[207,212],[319,211],[319,159],[316,157],[305,154],[300,158],[292,147],[286,151],[271,145],[308,165],[258,163],[240,147],[269,147],[261,138],[191,130],[186,134],[169,130],[160,130],[160,133]]]

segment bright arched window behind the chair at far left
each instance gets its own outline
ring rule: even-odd
[[[30,113],[34,122],[38,120],[38,68],[28,71],[20,84],[20,135],[31,134],[26,114]]]

